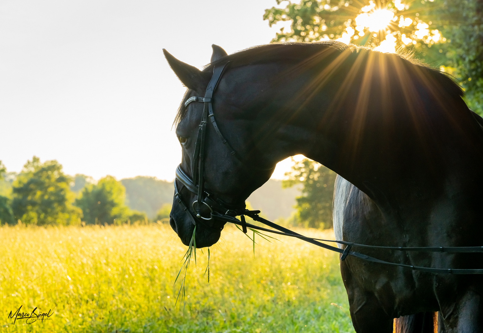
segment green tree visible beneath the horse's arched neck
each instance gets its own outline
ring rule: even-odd
[[[298,223],[305,227],[332,227],[332,198],[336,173],[309,159],[295,162],[292,170],[285,173],[286,187],[302,184],[302,195],[297,197]]]

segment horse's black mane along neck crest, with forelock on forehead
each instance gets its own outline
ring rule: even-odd
[[[336,53],[342,53],[349,50],[353,54],[359,53],[378,53],[381,56],[394,56],[394,53],[381,53],[374,51],[366,46],[359,46],[354,44],[344,44],[339,41],[328,40],[313,43],[300,42],[282,42],[271,43],[266,45],[253,46],[236,53],[229,54],[221,59],[206,65],[203,69],[205,72],[212,72],[213,67],[219,64],[230,62],[230,67],[242,67],[248,65],[256,65],[272,62],[293,62],[294,64],[304,61],[307,58],[316,56],[318,53],[327,50],[327,48],[335,50]],[[439,68],[427,66],[421,60],[416,59],[411,53],[399,51],[396,56],[401,58],[409,66],[418,67],[422,72],[438,82],[440,89],[443,89],[448,96],[453,98],[460,98],[464,95],[462,88],[454,81],[449,74],[441,72]],[[178,108],[173,126],[175,126],[185,116],[185,101],[189,98],[192,91],[188,89],[185,93],[182,103]]]

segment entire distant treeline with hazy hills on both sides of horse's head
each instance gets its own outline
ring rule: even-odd
[[[95,182],[84,174],[63,173],[56,160],[33,157],[20,173],[7,173],[0,161],[0,223],[36,225],[167,223],[173,182],[138,176],[117,181],[112,176]],[[283,188],[270,179],[248,202],[270,218],[294,214],[297,186]]]

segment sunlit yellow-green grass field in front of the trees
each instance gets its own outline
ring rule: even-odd
[[[333,237],[331,231],[307,231]],[[183,300],[173,282],[186,247],[169,226],[0,227],[4,332],[354,332],[338,256],[227,226],[197,251]],[[28,324],[9,318],[48,313]],[[31,321],[31,320],[30,320]]]

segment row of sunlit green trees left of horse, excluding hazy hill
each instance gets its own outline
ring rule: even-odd
[[[113,176],[98,182],[65,174],[56,160],[33,157],[18,174],[0,162],[0,223],[79,225],[147,223],[146,213],[126,205],[126,188]],[[155,219],[166,220],[170,207]]]

